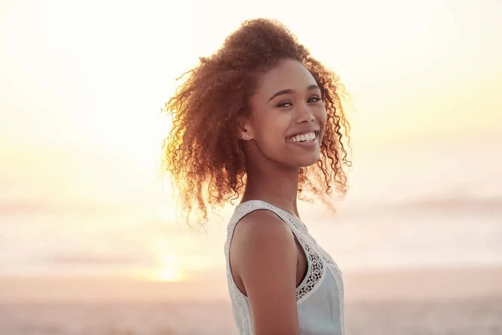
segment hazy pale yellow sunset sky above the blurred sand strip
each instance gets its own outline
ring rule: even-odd
[[[176,77],[256,17],[287,25],[352,96],[339,218],[303,205],[326,249],[347,268],[457,264],[459,250],[460,263],[502,264],[502,3],[7,0],[0,275],[187,280],[224,268],[232,208],[205,232],[184,226],[159,175],[160,109]]]

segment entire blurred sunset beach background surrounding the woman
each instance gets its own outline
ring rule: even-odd
[[[159,170],[175,78],[275,18],[352,95],[349,190],[301,203],[350,334],[502,334],[502,2],[0,2],[0,333],[236,334],[232,206]]]

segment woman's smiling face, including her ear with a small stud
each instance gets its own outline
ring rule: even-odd
[[[283,60],[261,76],[241,138],[250,140],[249,149],[287,167],[312,165],[319,159],[327,119],[321,98],[309,70]]]

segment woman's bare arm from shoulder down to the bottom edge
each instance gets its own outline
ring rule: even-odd
[[[234,270],[249,297],[255,335],[299,335],[292,232],[274,213],[257,210],[241,219],[232,243]]]

